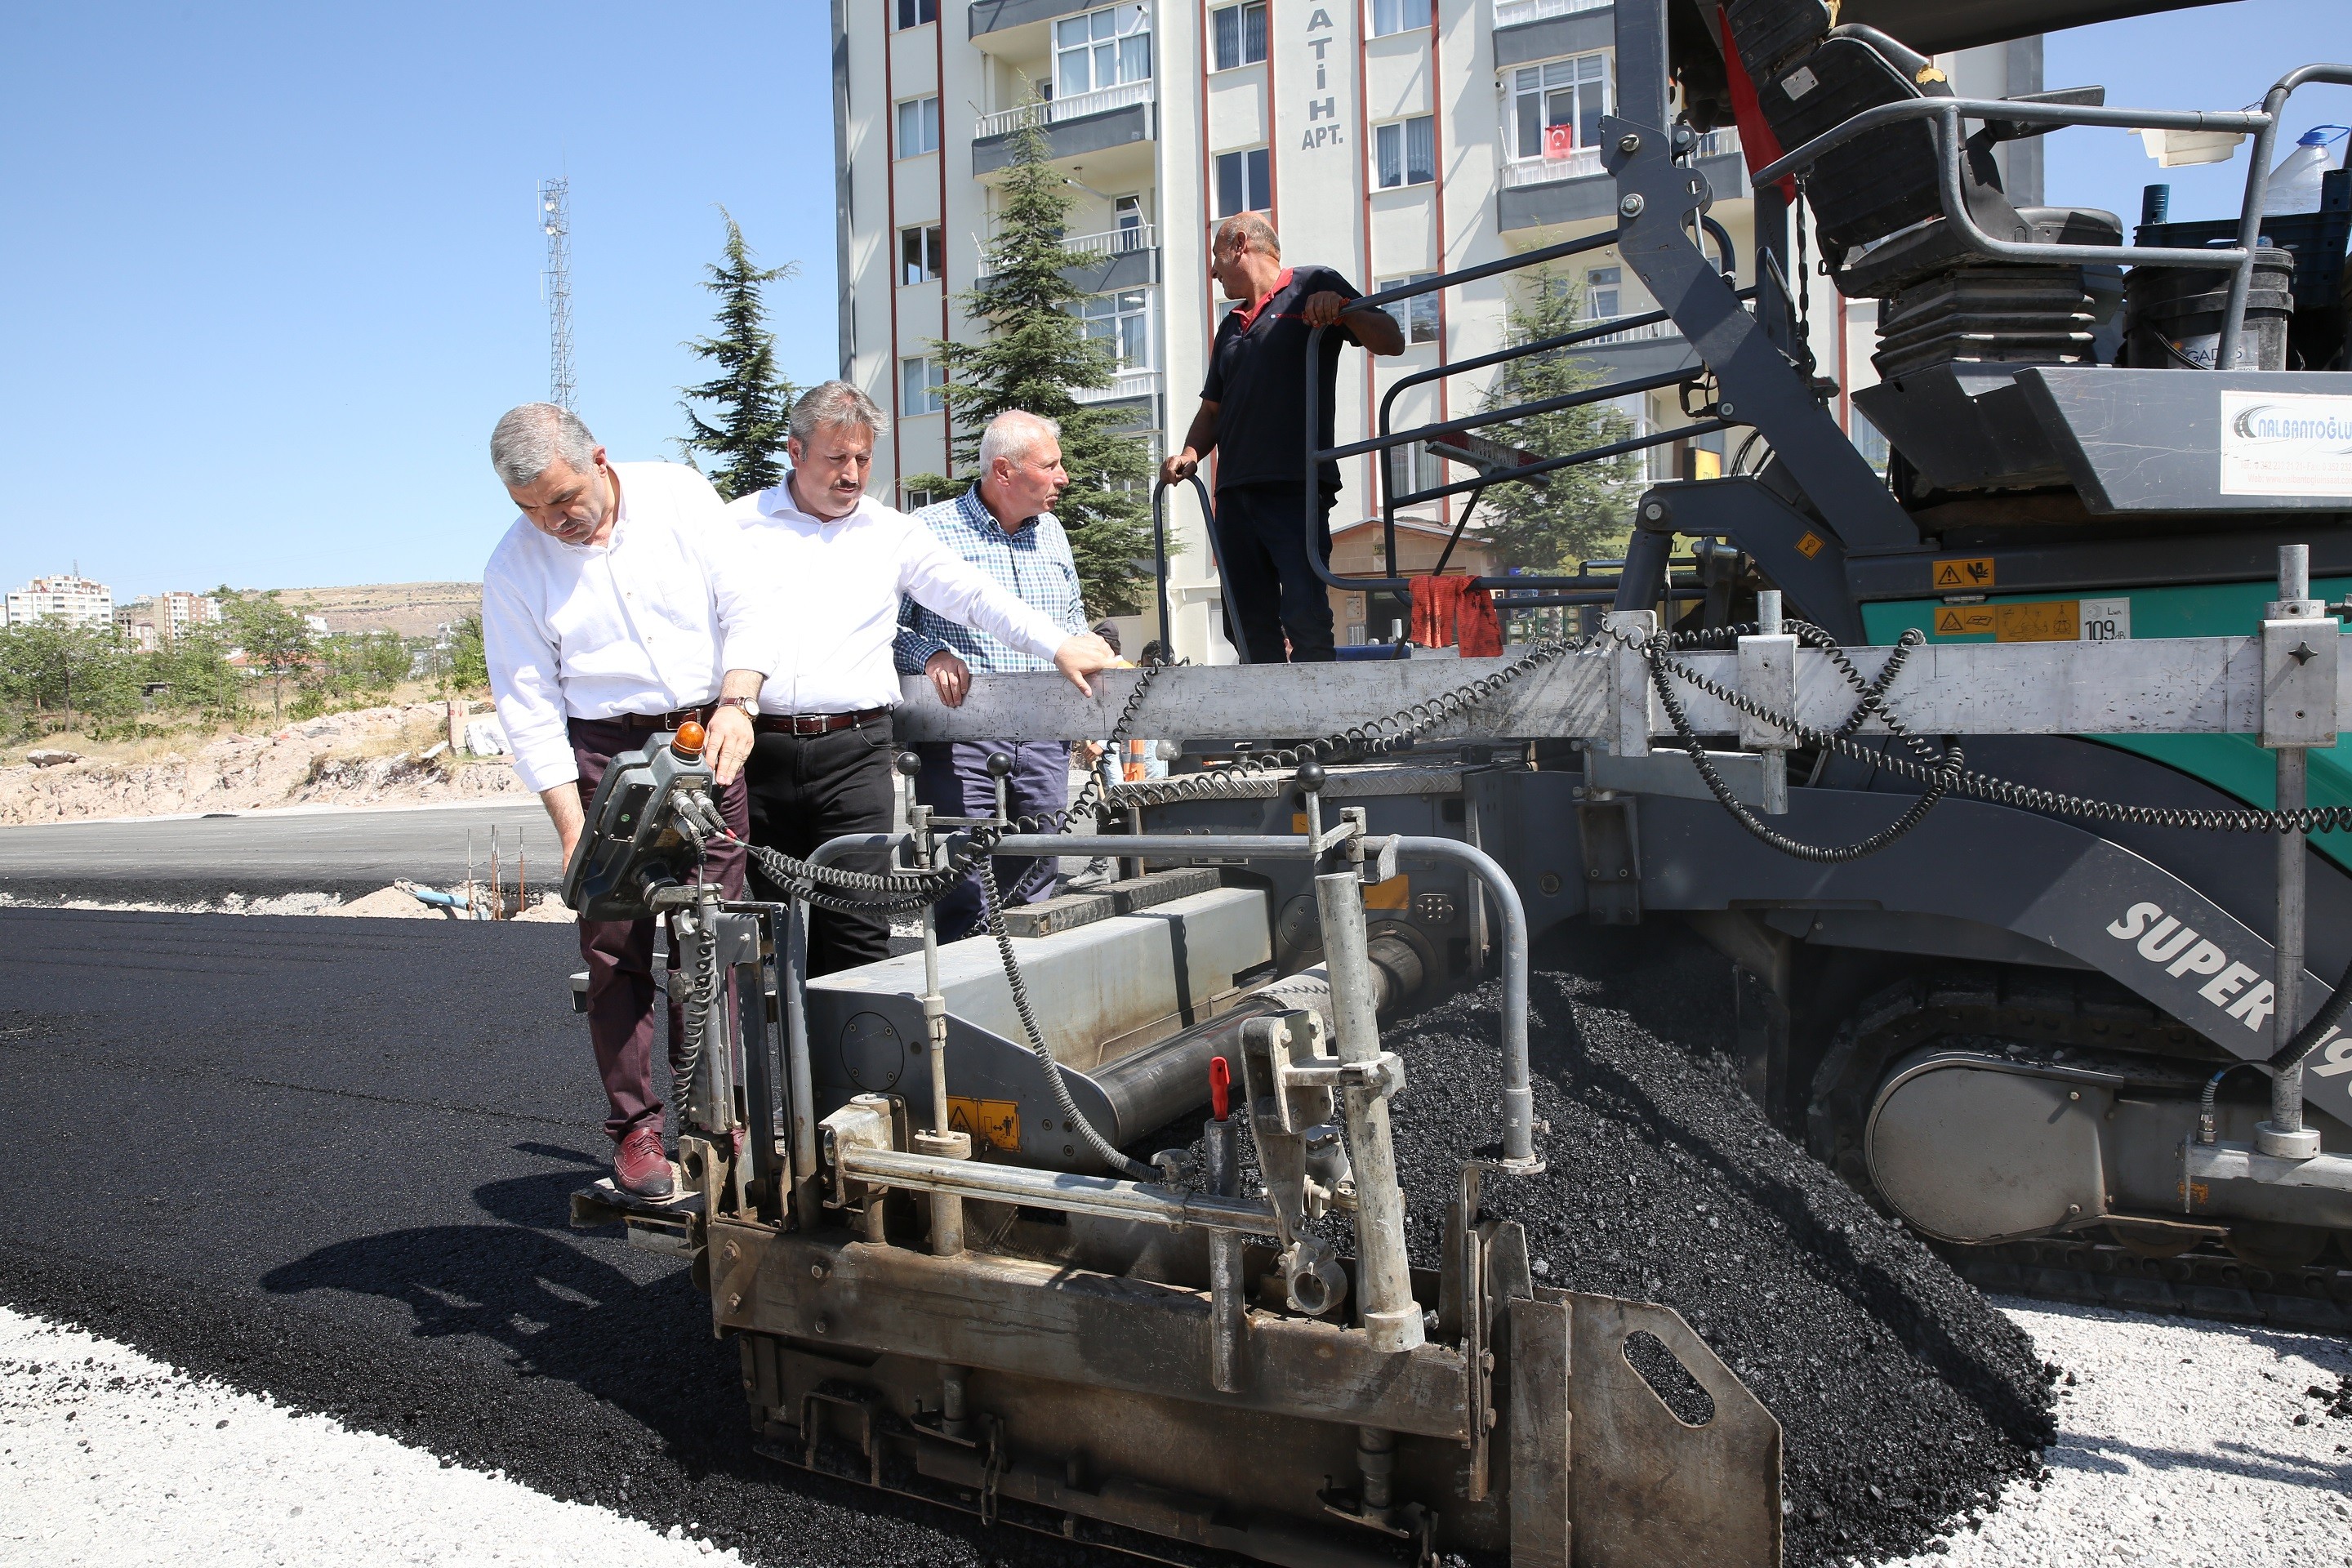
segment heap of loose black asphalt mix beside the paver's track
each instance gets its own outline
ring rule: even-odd
[[[1719,1048],[1729,966],[1675,933],[1538,952],[1531,1058],[1550,1168],[1489,1178],[1538,1279],[1665,1302],[1780,1420],[1788,1563],[1910,1554],[2032,1481],[2051,1439],[2032,1342],[1776,1133]],[[1501,987],[1397,1030],[1411,1251],[1437,1262],[1454,1171],[1501,1131]]]

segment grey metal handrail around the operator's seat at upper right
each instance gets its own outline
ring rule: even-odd
[[[2352,85],[2352,66],[2303,66],[2279,78],[2263,99],[2260,110],[2171,110],[2171,108],[2107,108],[2103,103],[2030,103],[2018,99],[1907,99],[1882,103],[1851,120],[1813,136],[1780,160],[1757,169],[1755,186],[1762,190],[1785,174],[1804,174],[1820,158],[1856,136],[1924,120],[1936,139],[1938,197],[1943,219],[1952,233],[1980,256],[1994,261],[2039,261],[2056,266],[2178,266],[2178,268],[2230,268],[2230,310],[2223,317],[2220,346],[2213,369],[2239,369],[2239,341],[2246,327],[2246,294],[2253,287],[2256,247],[2263,233],[2263,197],[2270,190],[2270,153],[2279,129],[2279,113],[2288,94],[2305,82]],[[2171,132],[2251,132],[2253,165],[2246,172],[2246,200],[2239,207],[2239,233],[2234,247],[2180,249],[2159,244],[2030,244],[2020,240],[1997,240],[1983,230],[1969,212],[1966,176],[1962,158],[1966,139],[1962,120],[1997,125],[2107,125],[2117,129],[2171,129]]]

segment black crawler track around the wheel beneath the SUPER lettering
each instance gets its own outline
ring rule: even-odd
[[[2133,1088],[2187,1095],[2227,1065],[2180,1020],[2105,976],[2013,966],[1945,966],[1872,992],[1837,1030],[1811,1079],[1813,1152],[1889,1211],[1863,1159],[1863,1124],[1886,1067],[1931,1041],[1971,1044],[2018,1063],[2122,1072]],[[2206,1316],[2317,1333],[2352,1333],[2352,1234],[2288,1267],[2260,1248],[2211,1239],[2150,1255],[2107,1225],[1962,1246],[1926,1239],[1980,1291],[2131,1312]]]

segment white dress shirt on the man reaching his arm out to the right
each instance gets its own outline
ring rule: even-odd
[[[931,529],[873,496],[823,522],[800,510],[793,484],[736,496],[727,515],[743,527],[753,564],[779,592],[776,663],[767,665],[760,712],[863,712],[898,705],[898,599],[1000,642],[1054,658],[1070,632],[1023,604]]]

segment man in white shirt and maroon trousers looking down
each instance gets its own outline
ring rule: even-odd
[[[750,708],[776,668],[776,607],[743,541],[691,468],[609,463],[569,409],[527,402],[489,437],[489,461],[522,517],[482,571],[482,654],[515,771],[539,792],[564,860],[619,752],[696,719],[717,773],[717,806],[750,832],[739,773]],[[743,893],[741,844],[715,844],[706,872]],[[581,922],[588,1039],[612,1114],[614,1180],[670,1194],[654,1091],[654,922]],[[670,1004],[670,1051],[682,1037]]]

